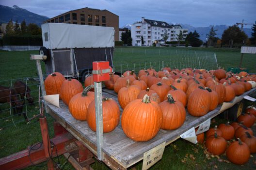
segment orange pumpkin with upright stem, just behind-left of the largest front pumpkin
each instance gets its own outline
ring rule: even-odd
[[[117,94],[120,106],[124,109],[129,102],[137,99],[140,91],[141,89],[139,86],[130,85],[129,80],[127,80],[126,87],[122,87]]]

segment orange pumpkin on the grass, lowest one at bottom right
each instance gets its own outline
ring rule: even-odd
[[[250,158],[250,149],[248,145],[238,138],[238,141],[232,142],[226,150],[228,160],[234,164],[242,165],[248,162]]]

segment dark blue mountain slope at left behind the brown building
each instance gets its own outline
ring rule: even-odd
[[[47,20],[48,17],[34,14],[28,10],[19,8],[17,5],[13,7],[0,5],[0,24],[8,23],[10,19],[13,19],[13,22],[18,20],[18,23],[21,23],[25,19],[26,24],[34,23],[41,26],[43,21]]]

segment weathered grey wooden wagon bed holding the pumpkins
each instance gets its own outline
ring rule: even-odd
[[[244,93],[239,98],[242,99],[245,95],[256,93],[256,88]],[[110,97],[117,101],[117,95],[107,89],[102,90],[102,96]],[[239,102],[239,100],[237,100]],[[118,103],[118,101],[117,101]],[[96,132],[93,132],[87,125],[86,121],[79,121],[72,117],[68,107],[60,101],[60,108],[47,103],[49,114],[56,119],[64,128],[67,129],[75,138],[82,142],[93,154],[97,155],[96,148]],[[187,113],[186,120],[182,127],[176,130],[160,129],[157,136],[147,142],[135,142],[129,139],[121,128],[121,122],[112,132],[104,133],[103,153],[105,162],[111,169],[127,169],[135,163],[143,159],[144,152],[158,146],[162,142],[166,145],[177,140],[180,135],[192,127],[198,127],[201,123],[209,118],[213,118],[220,114],[221,105],[215,110],[201,117],[194,117]],[[120,107],[121,113],[122,108]],[[222,111],[223,112],[223,111]]]

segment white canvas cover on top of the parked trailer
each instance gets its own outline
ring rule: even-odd
[[[42,24],[47,49],[114,47],[114,28],[64,23]]]

